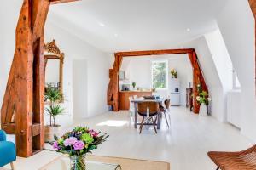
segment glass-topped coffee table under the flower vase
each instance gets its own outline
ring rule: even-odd
[[[100,161],[85,161],[86,170],[121,170],[121,166],[113,163],[103,163]],[[67,156],[60,156],[39,170],[70,170],[70,160]]]

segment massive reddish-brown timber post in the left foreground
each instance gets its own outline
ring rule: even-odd
[[[44,149],[44,25],[50,3],[24,0],[16,27],[15,56],[1,109],[1,124],[15,133],[17,156]]]

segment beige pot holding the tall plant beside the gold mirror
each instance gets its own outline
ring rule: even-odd
[[[61,126],[45,126],[44,127],[44,142],[53,142],[55,141],[55,135],[60,136]]]

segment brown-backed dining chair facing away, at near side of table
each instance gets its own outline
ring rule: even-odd
[[[160,113],[159,103],[154,102],[154,101],[138,103],[137,104],[137,113],[140,116],[143,116],[143,120],[140,125],[140,133],[142,133],[144,122],[146,122],[146,125],[153,126],[154,132],[157,133],[155,126],[156,126],[157,116]]]

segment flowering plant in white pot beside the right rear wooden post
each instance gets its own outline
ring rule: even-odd
[[[199,115],[207,116],[208,115],[207,105],[209,105],[209,101],[211,99],[209,98],[209,94],[206,91],[202,90],[201,84],[197,85],[197,90],[199,95],[196,96],[196,101],[200,104]]]

